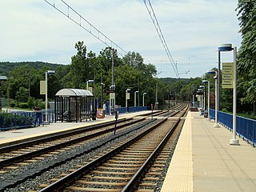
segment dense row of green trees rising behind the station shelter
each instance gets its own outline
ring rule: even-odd
[[[71,57],[70,65],[57,65],[45,62],[2,62],[2,75],[8,80],[1,82],[0,97],[15,100],[16,106],[26,103],[29,108],[43,103],[45,95],[40,95],[40,81],[45,80],[47,70],[55,70],[48,76],[48,98],[54,100],[54,95],[62,88],[86,89],[86,82],[94,80],[94,96],[101,98],[102,83],[103,100],[109,99],[108,90],[112,80],[112,54],[114,54],[114,81],[116,86],[116,104],[125,106],[126,89],[130,89],[129,106],[134,106],[134,91],[138,90],[140,104],[142,94],[146,93],[145,103],[155,102],[155,87],[158,84],[158,95],[165,95],[165,86],[155,78],[157,70],[154,65],[146,65],[142,55],[129,52],[122,58],[111,47],[106,47],[98,55],[87,51],[84,42],[75,43],[77,54]],[[158,102],[164,103],[164,97],[159,96]],[[35,103],[36,102],[36,103]]]

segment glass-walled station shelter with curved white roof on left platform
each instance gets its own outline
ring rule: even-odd
[[[55,122],[82,122],[92,117],[94,95],[89,90],[62,89],[55,94]]]

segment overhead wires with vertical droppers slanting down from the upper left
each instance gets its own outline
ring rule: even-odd
[[[100,30],[98,30],[95,26],[93,26],[90,22],[86,20],[86,18],[83,18],[81,14],[78,14],[76,10],[74,10],[71,6],[69,6],[66,2],[63,0],[58,1],[62,5],[57,6],[55,0],[53,2],[49,2],[47,0],[44,0],[47,2],[50,6],[53,6],[54,9],[58,10],[60,13],[64,14],[67,18],[69,18],[72,22],[77,24],[78,26],[82,27],[83,30],[86,30],[88,33],[94,36],[94,38],[98,38],[99,41],[103,42],[106,46],[110,46],[118,51],[118,54],[126,54],[126,50],[123,50],[118,44],[114,43],[110,38],[108,38],[105,34],[103,34]],[[72,15],[77,16],[76,18]]]

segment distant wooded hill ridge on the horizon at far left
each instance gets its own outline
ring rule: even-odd
[[[56,70],[62,64],[54,64],[49,62],[0,62],[0,75],[6,76],[10,71],[14,70],[15,66],[29,65],[34,69],[41,69],[43,66],[50,67],[51,70]]]

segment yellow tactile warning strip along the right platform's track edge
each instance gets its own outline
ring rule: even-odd
[[[191,112],[186,116],[161,192],[193,191]]]

